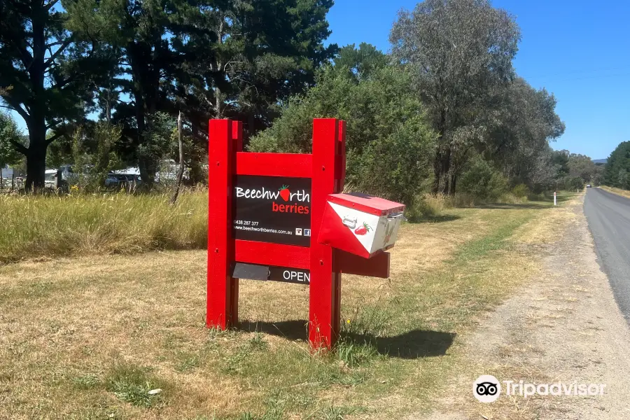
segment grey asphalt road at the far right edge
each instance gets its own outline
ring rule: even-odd
[[[630,322],[630,199],[587,188],[584,214],[619,309]]]

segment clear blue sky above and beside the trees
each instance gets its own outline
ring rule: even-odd
[[[388,50],[389,30],[412,0],[336,0],[328,41],[367,42]],[[555,149],[608,158],[630,140],[629,1],[495,0],[521,27],[517,73],[558,100],[566,123]]]

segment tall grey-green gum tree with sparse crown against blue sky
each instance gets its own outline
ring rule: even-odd
[[[475,121],[493,88],[514,77],[519,28],[488,0],[425,0],[401,10],[391,31],[393,55],[412,66],[416,85],[440,139],[433,159],[433,193],[454,193],[451,156],[484,135]],[[440,188],[440,181],[442,182]]]

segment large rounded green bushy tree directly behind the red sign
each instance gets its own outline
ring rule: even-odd
[[[248,146],[257,152],[310,153],[313,118],[346,120],[346,183],[356,191],[412,204],[430,175],[435,133],[409,91],[409,73],[386,66],[359,80],[328,67],[293,97],[272,127]]]

